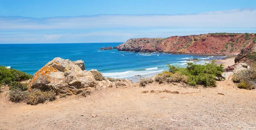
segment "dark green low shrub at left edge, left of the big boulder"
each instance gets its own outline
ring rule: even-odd
[[[9,85],[11,82],[27,79],[32,79],[32,76],[15,69],[8,69],[5,66],[0,66],[0,84],[3,83],[4,85]]]

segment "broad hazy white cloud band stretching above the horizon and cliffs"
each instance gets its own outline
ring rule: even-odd
[[[255,32],[255,16],[255,9],[183,15],[0,16],[0,43],[124,42],[136,37]]]

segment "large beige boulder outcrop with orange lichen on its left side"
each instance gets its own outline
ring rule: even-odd
[[[129,80],[122,80],[122,83],[133,84]],[[29,90],[38,88],[72,95],[82,93],[88,88],[116,87],[116,82],[108,79],[97,81],[91,71],[85,70],[82,60],[72,62],[69,59],[56,57],[33,75],[28,87]]]

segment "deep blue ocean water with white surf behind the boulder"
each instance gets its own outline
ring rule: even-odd
[[[69,44],[0,44],[0,65],[34,74],[55,57],[76,61],[82,59],[86,70],[97,69],[104,76],[129,78],[135,75],[151,76],[168,70],[166,64],[184,67],[186,59],[199,58],[204,64],[207,57],[164,53],[133,53],[117,50],[99,50],[101,47],[121,43],[69,43]]]

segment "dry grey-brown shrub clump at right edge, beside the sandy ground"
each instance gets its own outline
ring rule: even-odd
[[[255,89],[256,88],[256,68],[239,71],[232,77],[232,81],[238,84],[238,88]],[[248,87],[250,86],[250,87]]]

